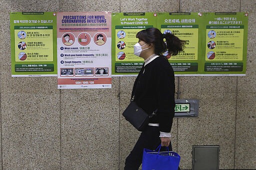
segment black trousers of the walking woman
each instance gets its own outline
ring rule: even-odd
[[[161,143],[159,135],[159,127],[154,126],[148,126],[145,131],[141,132],[135,146],[125,160],[124,170],[138,170],[142,163],[143,149],[155,150]],[[171,144],[168,148],[169,151],[172,151]],[[165,151],[165,149],[162,147],[160,151]]]

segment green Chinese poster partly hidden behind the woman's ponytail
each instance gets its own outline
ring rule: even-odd
[[[157,28],[162,32],[174,34],[185,41],[183,51],[175,56],[165,55],[175,75],[197,74],[201,56],[202,20],[196,12],[160,12],[157,13]]]

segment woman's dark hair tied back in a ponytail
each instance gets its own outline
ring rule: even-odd
[[[155,54],[162,55],[163,52],[168,50],[170,55],[177,55],[184,48],[184,40],[180,40],[175,35],[167,32],[162,34],[157,28],[147,28],[139,31],[136,38],[145,41],[146,43],[154,44]],[[166,40],[166,44],[163,41]]]

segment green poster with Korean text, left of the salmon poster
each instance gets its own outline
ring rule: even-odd
[[[56,13],[11,12],[11,76],[56,76]]]

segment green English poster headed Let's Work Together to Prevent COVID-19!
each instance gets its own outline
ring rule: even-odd
[[[149,27],[156,27],[156,13],[112,13],[112,76],[139,72],[143,59],[133,54],[133,45],[136,33]]]

